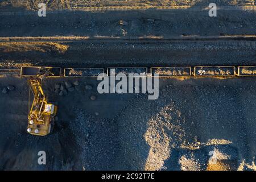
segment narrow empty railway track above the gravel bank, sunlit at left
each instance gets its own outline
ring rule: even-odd
[[[125,43],[172,43],[184,40],[199,41],[255,41],[256,35],[224,35],[224,36],[46,36],[46,37],[0,37],[0,42],[125,42]]]

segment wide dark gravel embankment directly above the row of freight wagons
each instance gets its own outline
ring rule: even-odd
[[[1,43],[2,63],[57,67],[255,65],[254,41]]]

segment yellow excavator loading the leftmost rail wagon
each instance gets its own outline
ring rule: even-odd
[[[34,94],[27,125],[27,133],[32,135],[45,136],[49,134],[57,113],[57,106],[47,101],[41,86],[45,76],[28,79],[28,85]]]

